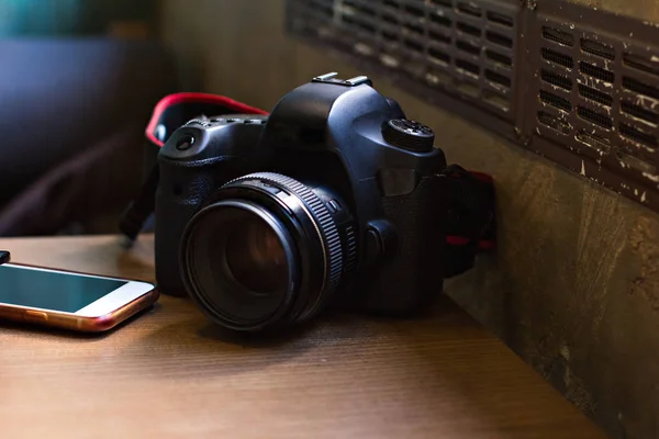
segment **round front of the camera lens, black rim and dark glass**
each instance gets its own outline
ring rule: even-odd
[[[290,299],[293,241],[263,206],[217,203],[191,222],[185,248],[190,293],[230,326],[258,326]]]

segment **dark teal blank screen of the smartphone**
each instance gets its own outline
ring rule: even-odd
[[[0,266],[0,303],[76,313],[127,281]]]

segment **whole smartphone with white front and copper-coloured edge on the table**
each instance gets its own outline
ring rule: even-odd
[[[147,282],[0,266],[0,318],[19,323],[101,333],[152,306],[158,296]]]

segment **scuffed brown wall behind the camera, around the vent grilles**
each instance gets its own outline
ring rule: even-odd
[[[161,20],[191,87],[269,109],[319,74],[370,75],[288,38],[282,0],[194,5],[166,1]],[[650,0],[629,9],[659,16]],[[659,216],[371,77],[442,132],[451,161],[495,178],[498,255],[447,293],[612,437],[659,436]]]

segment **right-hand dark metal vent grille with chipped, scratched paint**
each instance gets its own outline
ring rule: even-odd
[[[582,23],[540,13],[530,29],[535,134],[583,159],[574,170],[645,203],[659,183],[659,49]]]

